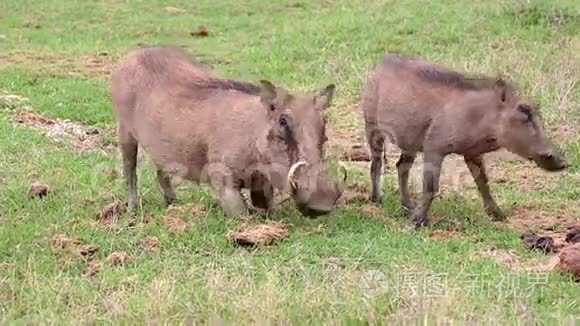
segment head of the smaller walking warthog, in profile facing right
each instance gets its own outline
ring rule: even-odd
[[[544,130],[534,105],[526,102],[501,79],[497,82],[500,97],[498,143],[507,150],[534,161],[547,171],[560,171],[566,164]]]

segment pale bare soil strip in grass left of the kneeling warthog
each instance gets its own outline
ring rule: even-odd
[[[51,119],[29,109],[21,109],[16,113],[14,121],[32,129],[42,131],[50,139],[57,142],[67,142],[81,151],[100,150],[111,153],[113,145],[103,145],[101,133],[68,119]]]

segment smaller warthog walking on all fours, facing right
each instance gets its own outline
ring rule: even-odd
[[[468,78],[420,58],[386,55],[368,75],[361,110],[372,154],[371,200],[381,199],[381,156],[387,139],[402,150],[396,164],[401,203],[408,211],[414,209],[417,227],[428,224],[441,163],[448,154],[463,155],[486,211],[496,220],[505,216],[491,196],[482,154],[505,148],[545,170],[565,168],[534,106],[502,79]],[[414,207],[408,181],[418,152],[424,156],[423,194]]]

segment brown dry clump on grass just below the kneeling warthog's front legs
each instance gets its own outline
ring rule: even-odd
[[[239,245],[270,245],[275,240],[288,236],[288,226],[281,222],[258,225],[241,225],[236,231],[228,232],[228,239]]]

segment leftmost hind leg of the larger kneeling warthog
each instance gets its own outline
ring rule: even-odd
[[[137,205],[137,140],[120,130],[119,142],[123,157],[123,176],[127,184],[127,207],[132,211]]]

